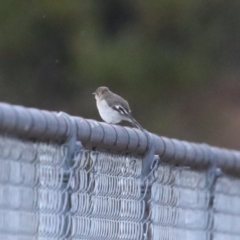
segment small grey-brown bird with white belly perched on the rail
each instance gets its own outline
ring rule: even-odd
[[[111,92],[107,87],[99,87],[93,94],[97,101],[99,114],[105,122],[116,124],[125,120],[143,130],[142,126],[132,117],[129,104],[125,99]]]

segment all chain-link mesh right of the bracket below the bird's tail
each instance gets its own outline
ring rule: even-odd
[[[153,178],[147,239],[240,239],[240,179],[167,164]]]

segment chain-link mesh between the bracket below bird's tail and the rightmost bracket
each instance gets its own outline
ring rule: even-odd
[[[209,239],[207,173],[160,165],[153,175],[149,239]]]

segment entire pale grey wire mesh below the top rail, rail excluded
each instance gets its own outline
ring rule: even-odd
[[[0,136],[0,239],[240,239],[238,177]],[[68,164],[66,164],[68,162]],[[71,164],[69,164],[71,163]]]

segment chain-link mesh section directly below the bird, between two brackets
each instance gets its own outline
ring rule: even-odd
[[[72,239],[136,239],[143,235],[141,158],[83,150],[72,168]]]

